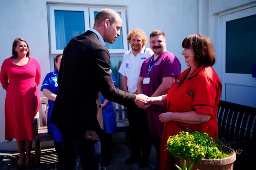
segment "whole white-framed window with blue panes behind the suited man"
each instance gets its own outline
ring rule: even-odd
[[[96,14],[103,8],[116,10],[123,20],[120,37],[117,37],[113,44],[105,44],[110,52],[110,66],[116,79],[117,87],[122,88],[121,75],[118,70],[123,61],[123,54],[128,50],[126,12],[124,8],[48,4],[50,68],[51,71],[54,71],[54,57],[63,53],[65,46],[74,36],[80,35],[93,27]]]

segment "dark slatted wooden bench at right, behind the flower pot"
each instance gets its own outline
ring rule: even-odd
[[[256,108],[220,101],[218,109],[219,141],[237,153],[236,169],[254,169],[256,152]]]

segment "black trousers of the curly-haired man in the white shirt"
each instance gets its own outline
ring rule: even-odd
[[[130,149],[132,157],[148,157],[151,151],[151,137],[147,111],[136,104],[127,107],[129,120]]]

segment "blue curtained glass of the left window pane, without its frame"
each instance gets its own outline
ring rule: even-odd
[[[56,49],[64,50],[68,42],[85,32],[83,11],[54,10]]]

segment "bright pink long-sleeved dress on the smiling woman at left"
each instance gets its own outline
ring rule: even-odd
[[[11,57],[4,60],[0,80],[5,97],[5,140],[33,140],[32,121],[40,106],[37,86],[41,80],[41,67],[37,59],[18,66]]]

